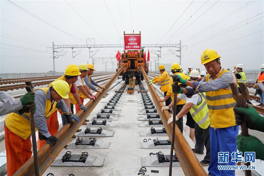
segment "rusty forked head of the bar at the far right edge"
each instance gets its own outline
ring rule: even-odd
[[[233,98],[237,102],[237,106],[246,107],[247,106],[246,101],[248,100],[249,97],[248,88],[246,87],[246,85],[243,82],[238,83],[241,93],[238,91],[238,87],[235,83],[231,82],[229,83],[229,85],[232,90]]]

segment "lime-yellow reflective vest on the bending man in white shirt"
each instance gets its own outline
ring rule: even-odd
[[[190,113],[194,121],[203,129],[208,128],[210,125],[209,121],[209,111],[206,104],[206,95],[205,93],[198,93],[201,96],[202,101],[200,104],[192,105]]]

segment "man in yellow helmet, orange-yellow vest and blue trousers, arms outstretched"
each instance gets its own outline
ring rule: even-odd
[[[218,170],[218,165],[235,165],[231,161],[231,153],[237,151],[236,125],[233,99],[230,82],[237,80],[235,75],[221,67],[220,55],[215,50],[206,49],[201,55],[201,65],[204,65],[209,74],[201,82],[192,82],[173,76],[180,83],[190,87],[181,88],[172,85],[175,92],[187,94],[190,97],[196,93],[206,92],[206,102],[210,120],[211,163],[208,167],[209,175],[235,175],[235,170]],[[218,152],[229,152],[228,163],[218,163]]]

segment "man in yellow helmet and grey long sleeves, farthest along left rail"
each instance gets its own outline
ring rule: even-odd
[[[94,69],[93,64],[92,64],[92,63],[87,64],[87,68],[88,68],[88,70],[89,70],[89,71],[88,71],[88,74],[87,74],[86,77],[83,78],[85,84],[86,84],[90,89],[92,89],[93,91],[102,93],[102,90],[101,90],[101,89],[105,89],[105,87],[100,86],[99,84],[97,84],[97,83],[91,78],[91,75],[93,75],[93,71],[96,71],[96,70]],[[95,86],[99,87],[100,89],[96,89]]]

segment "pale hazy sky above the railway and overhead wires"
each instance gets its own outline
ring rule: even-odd
[[[188,66],[204,70],[200,56],[207,48],[218,51],[224,68],[242,63],[245,69],[259,69],[264,63],[264,4],[259,0],[0,1],[0,6],[1,73],[53,70],[52,50],[47,48],[52,47],[53,41],[55,45],[75,45],[95,38],[95,44],[119,44],[123,32],[132,30],[141,31],[142,44],[177,44],[181,40],[182,45],[187,45],[182,49],[184,70]],[[98,49],[94,57],[110,57],[123,50]],[[159,63],[179,62],[169,49],[178,50],[162,48]],[[94,50],[97,49],[91,49]],[[75,58],[71,58],[71,49],[62,53],[65,56],[55,59],[57,72],[63,72],[70,64],[91,62],[88,48],[81,48]],[[95,69],[105,70],[102,60],[95,63]],[[110,62],[107,70],[112,70]]]

